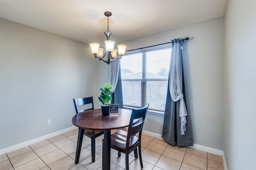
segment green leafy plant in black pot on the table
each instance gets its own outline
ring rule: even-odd
[[[109,83],[105,83],[105,87],[104,89],[99,88],[101,91],[101,95],[98,96],[99,101],[102,103],[101,105],[101,111],[102,111],[102,115],[106,116],[110,114],[110,105],[108,105],[108,101],[110,101],[112,99],[110,95],[110,93],[112,92],[110,89],[112,89],[112,85],[110,85]]]

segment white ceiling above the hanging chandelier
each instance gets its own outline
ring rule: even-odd
[[[0,0],[0,17],[84,43],[122,42],[225,15],[227,0]]]

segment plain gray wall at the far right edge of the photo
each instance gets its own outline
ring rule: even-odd
[[[225,16],[224,156],[231,170],[256,167],[256,1],[229,1]]]

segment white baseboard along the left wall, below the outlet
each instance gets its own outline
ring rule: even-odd
[[[3,149],[0,149],[0,155],[1,154],[5,154],[7,152],[11,152],[13,150],[16,150],[16,149],[19,149],[19,148],[23,148],[25,146],[28,146],[30,144],[34,144],[36,142],[40,142],[42,140],[46,140],[48,138],[51,138],[53,136],[56,136],[56,135],[59,135],[59,134],[62,134],[62,133],[65,133],[65,132],[68,132],[70,130],[74,130],[76,129],[77,127],[73,126],[73,127],[69,127],[69,128],[65,128],[65,129],[62,129],[62,130],[59,130],[57,132],[53,132],[53,133],[50,133],[50,134],[46,134],[44,136],[41,136],[41,137],[38,137],[38,138],[34,138],[34,139],[31,139],[31,140],[28,140],[26,142],[22,142],[22,143],[19,143],[19,144],[16,144],[16,145],[13,145],[13,146],[10,146],[10,147],[7,147],[7,148],[3,148]]]

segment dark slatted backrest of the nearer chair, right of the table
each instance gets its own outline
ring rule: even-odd
[[[147,111],[148,111],[148,104],[139,109],[132,109],[132,115],[131,115],[128,132],[127,132],[126,147],[129,146],[128,141],[130,141],[130,136],[140,132],[139,139],[141,138],[142,127],[144,124]],[[140,120],[137,123],[133,124],[135,119],[140,119]]]

